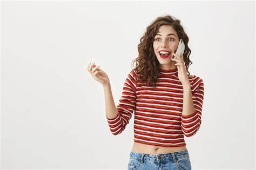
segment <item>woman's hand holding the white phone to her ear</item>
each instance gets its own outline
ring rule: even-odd
[[[181,81],[182,85],[190,85],[190,81],[187,77],[187,68],[184,63],[183,54],[181,54],[181,57],[177,55],[176,53],[173,53],[174,58],[171,58],[171,60],[176,61],[177,69],[178,69],[178,78]]]

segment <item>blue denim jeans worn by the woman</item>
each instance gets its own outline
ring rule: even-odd
[[[187,149],[165,154],[130,153],[128,170],[183,170],[191,169],[190,157]]]

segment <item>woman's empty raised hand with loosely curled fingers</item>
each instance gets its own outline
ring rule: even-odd
[[[110,84],[109,77],[102,69],[99,69],[99,67],[99,65],[95,65],[95,62],[93,62],[87,66],[87,71],[91,73],[93,79],[97,80],[103,86],[106,86]]]

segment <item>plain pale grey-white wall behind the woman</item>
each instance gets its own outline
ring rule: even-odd
[[[1,169],[126,169],[133,117],[110,133],[102,85],[115,104],[146,26],[180,19],[204,80],[200,130],[187,138],[193,169],[255,167],[255,2],[1,2]]]

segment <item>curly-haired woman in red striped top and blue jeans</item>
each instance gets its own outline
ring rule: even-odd
[[[176,54],[180,39],[185,51]],[[192,62],[187,44],[179,19],[157,17],[140,38],[136,68],[126,77],[117,107],[107,74],[95,63],[88,65],[91,76],[104,87],[113,135],[124,131],[134,111],[128,169],[191,169],[184,135],[192,137],[200,128],[204,83],[188,72]]]

